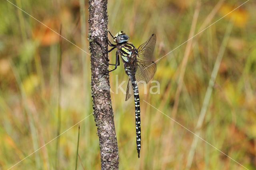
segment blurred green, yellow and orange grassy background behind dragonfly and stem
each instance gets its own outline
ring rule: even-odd
[[[10,2],[56,32],[62,25],[62,36],[88,52],[87,0]],[[90,56],[64,39],[60,53],[59,36],[10,2],[0,2],[0,170],[12,167],[92,113]],[[109,0],[108,29],[112,34],[126,32],[136,47],[155,33],[154,55],[159,59],[244,2]],[[116,91],[116,82],[127,83],[128,77],[122,64],[110,73],[120,169],[245,169],[234,160],[256,169],[255,9],[256,2],[249,0],[157,62],[153,80],[159,81],[160,94],[140,95],[140,159],[134,101],[125,102],[125,94]],[[222,60],[216,81],[208,86],[218,55]],[[109,57],[114,63],[115,53]],[[212,93],[206,94],[207,88]],[[139,91],[144,91],[143,85]],[[209,103],[203,105],[207,98]],[[100,169],[94,117],[79,125],[77,169]],[[12,169],[75,169],[77,141],[78,125]]]

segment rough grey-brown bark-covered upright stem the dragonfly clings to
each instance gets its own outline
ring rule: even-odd
[[[101,169],[118,169],[118,146],[114,126],[114,113],[110,99],[108,55],[100,46],[107,48],[107,0],[89,0],[89,34],[91,53],[92,107],[97,134],[100,140]]]

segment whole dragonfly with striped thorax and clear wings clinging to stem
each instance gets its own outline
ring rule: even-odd
[[[109,32],[110,33],[110,32]],[[112,36],[112,34],[110,33]],[[156,72],[156,63],[153,61],[153,52],[156,44],[156,34],[152,34],[150,38],[142,43],[138,49],[130,42],[128,42],[129,37],[123,32],[119,31],[115,36],[112,36],[113,44],[108,40],[108,45],[112,47],[110,50],[105,51],[105,49],[100,45],[102,50],[106,53],[111,52],[113,49],[116,50],[116,63],[109,64],[115,65],[114,69],[106,71],[109,73],[114,71],[118,65],[120,65],[119,57],[121,57],[124,63],[124,69],[129,77],[128,85],[126,89],[126,99],[127,101],[132,93],[134,94],[135,103],[135,125],[136,125],[136,145],[138,158],[140,158],[140,148],[141,148],[141,128],[140,128],[140,97],[138,91],[138,84],[147,84]]]

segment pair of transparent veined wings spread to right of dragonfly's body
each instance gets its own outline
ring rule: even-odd
[[[153,60],[153,52],[156,45],[156,34],[138,47],[136,68],[136,81],[147,84],[156,73],[156,63]]]

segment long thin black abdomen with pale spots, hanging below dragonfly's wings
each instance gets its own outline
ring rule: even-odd
[[[137,144],[138,158],[140,158],[140,147],[141,147],[140,96],[138,91],[138,85],[136,83],[134,75],[132,76],[132,88],[134,91],[134,103],[135,103],[136,144]]]

